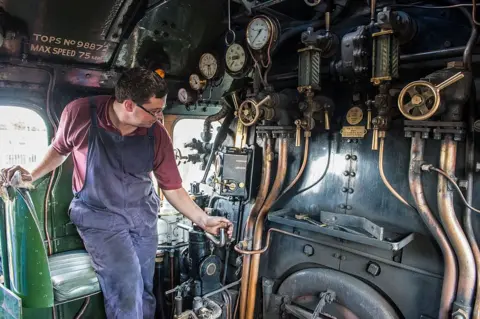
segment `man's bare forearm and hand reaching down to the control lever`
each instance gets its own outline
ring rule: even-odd
[[[209,216],[190,198],[183,188],[162,190],[165,198],[176,210],[185,215],[210,234],[218,235],[220,228],[227,228],[228,237],[233,235],[233,224],[224,217]]]

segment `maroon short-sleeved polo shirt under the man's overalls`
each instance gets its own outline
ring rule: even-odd
[[[119,131],[113,126],[108,116],[108,108],[114,98],[110,95],[95,96],[97,105],[98,125],[109,131]],[[53,141],[53,148],[61,155],[72,153],[73,158],[73,189],[78,192],[85,182],[88,154],[88,131],[91,125],[90,102],[88,98],[81,98],[70,102],[62,112],[60,125]],[[182,179],[178,172],[173,146],[165,127],[157,122],[154,124],[155,156],[153,172],[161,189],[171,190],[182,187]],[[129,136],[146,135],[147,128],[137,128]],[[120,134],[120,133],[119,133]]]

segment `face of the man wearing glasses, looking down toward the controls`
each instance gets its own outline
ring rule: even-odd
[[[127,124],[137,127],[151,127],[155,122],[163,122],[163,109],[167,97],[152,97],[146,103],[137,104],[133,101],[125,101],[125,109],[127,111]]]

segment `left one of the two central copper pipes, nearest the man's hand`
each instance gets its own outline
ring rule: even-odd
[[[247,223],[245,226],[245,240],[250,242],[250,248],[252,246],[251,241],[253,237],[253,229],[257,220],[258,212],[263,206],[265,199],[267,198],[268,189],[270,188],[270,179],[272,177],[272,138],[267,137],[265,147],[263,149],[263,165],[262,165],[262,178],[260,189],[253,204],[250,214],[248,214]],[[245,310],[247,309],[247,291],[248,291],[248,277],[250,275],[250,256],[243,256],[242,266],[242,286],[240,288],[240,319],[245,318]],[[237,305],[239,302],[237,301]]]

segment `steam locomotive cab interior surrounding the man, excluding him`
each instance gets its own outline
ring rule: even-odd
[[[233,224],[209,234],[156,187],[156,319],[478,319],[478,8],[2,0],[0,168],[145,68],[183,188]],[[0,318],[106,318],[72,175],[0,187]]]

